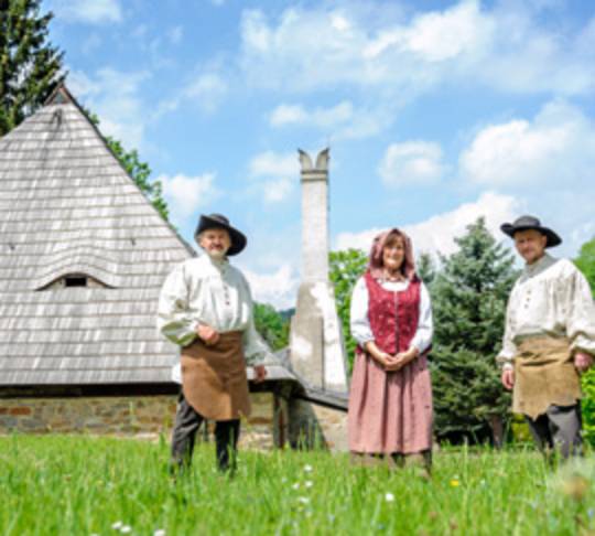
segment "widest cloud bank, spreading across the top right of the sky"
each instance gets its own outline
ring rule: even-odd
[[[483,8],[479,0],[462,0],[409,19],[380,3],[336,6],[292,7],[278,19],[246,10],[240,51],[246,79],[289,92],[347,84],[374,89],[370,101],[387,92],[387,99],[416,96],[441,83],[564,95],[595,87],[593,23],[578,31],[547,28],[539,7],[521,2]]]

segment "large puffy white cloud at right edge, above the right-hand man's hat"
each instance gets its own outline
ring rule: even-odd
[[[461,174],[494,186],[588,183],[595,169],[595,124],[563,101],[533,121],[515,119],[480,130],[459,158]]]

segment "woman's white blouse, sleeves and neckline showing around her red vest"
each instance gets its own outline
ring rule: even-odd
[[[385,290],[401,292],[407,290],[409,281],[379,281]],[[360,277],[354,287],[350,308],[350,328],[353,337],[364,346],[369,341],[374,341],[374,334],[368,318],[368,287],[366,280]],[[415,346],[421,353],[425,352],[432,344],[434,324],[432,320],[432,304],[430,293],[423,282],[420,289],[420,320],[418,330],[411,341],[411,346]]]

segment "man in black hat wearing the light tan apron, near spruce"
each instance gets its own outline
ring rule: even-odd
[[[545,453],[582,453],[581,378],[595,355],[595,305],[585,277],[545,249],[562,239],[533,216],[504,224],[526,266],[508,301],[502,384],[513,389],[512,410],[523,414]]]

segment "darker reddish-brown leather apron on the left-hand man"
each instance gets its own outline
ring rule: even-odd
[[[203,417],[231,420],[250,415],[241,331],[220,333],[214,346],[203,341],[182,349],[182,389]]]

